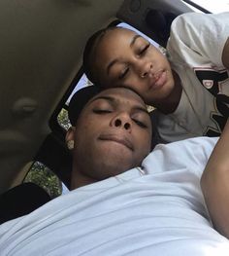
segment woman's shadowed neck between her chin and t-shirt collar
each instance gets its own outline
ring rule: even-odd
[[[155,107],[165,115],[175,112],[180,103],[180,97],[182,92],[180,77],[175,71],[173,71],[173,75],[175,83],[174,90],[171,91],[169,96],[165,98],[163,101],[161,101],[158,104],[155,104]]]

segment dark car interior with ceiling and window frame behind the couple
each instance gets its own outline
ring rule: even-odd
[[[90,35],[125,22],[166,47],[172,21],[186,12],[211,13],[187,0],[0,1],[1,208],[7,201],[14,211],[18,205],[12,205],[22,204],[26,195],[39,201],[30,192],[18,192],[35,162],[70,186],[66,113],[73,91],[89,84],[82,52]],[[9,191],[15,196],[6,197]],[[44,198],[43,203],[50,200]]]

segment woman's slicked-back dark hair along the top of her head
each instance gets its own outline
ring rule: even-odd
[[[103,29],[98,30],[86,42],[86,45],[83,50],[82,56],[82,67],[86,77],[92,82],[93,84],[99,85],[99,81],[97,81],[95,74],[93,73],[93,61],[95,57],[95,48],[104,35],[110,31],[118,28],[117,26],[109,26]]]

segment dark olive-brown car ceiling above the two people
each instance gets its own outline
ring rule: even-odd
[[[82,67],[87,38],[115,18],[156,37],[158,27],[148,29],[143,19],[149,6],[190,12],[180,0],[0,1],[0,193],[22,181],[41,151],[49,118]]]

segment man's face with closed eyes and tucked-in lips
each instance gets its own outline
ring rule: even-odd
[[[109,89],[83,108],[75,129],[77,171],[102,180],[141,165],[150,151],[151,123],[142,98]]]

